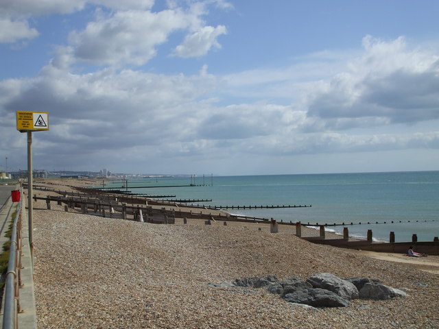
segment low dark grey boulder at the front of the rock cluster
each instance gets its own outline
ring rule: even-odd
[[[326,289],[311,288],[287,293],[284,300],[290,303],[307,304],[313,307],[346,307],[348,300]]]

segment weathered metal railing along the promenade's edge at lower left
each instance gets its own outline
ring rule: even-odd
[[[21,312],[19,287],[21,284],[21,200],[16,209],[12,226],[8,273],[5,279],[3,329],[18,328],[18,314]]]

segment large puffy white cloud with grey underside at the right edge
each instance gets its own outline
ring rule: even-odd
[[[367,36],[365,53],[351,60],[309,98],[309,115],[322,119],[378,117],[392,122],[439,118],[439,56],[409,49],[404,38]]]

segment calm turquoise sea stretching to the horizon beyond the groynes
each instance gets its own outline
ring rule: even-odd
[[[121,181],[106,184],[122,186]],[[357,238],[372,230],[375,241],[389,241],[390,232],[396,242],[412,241],[413,234],[418,241],[439,236],[439,171],[161,176],[130,179],[126,189],[152,197],[175,195],[165,199],[208,199],[193,204],[228,206],[234,215],[300,221],[316,229],[328,224],[326,230],[338,234],[347,227]],[[307,207],[248,209],[272,205]]]

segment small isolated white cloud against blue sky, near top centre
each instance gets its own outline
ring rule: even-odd
[[[227,29],[223,25],[204,26],[199,31],[186,36],[182,44],[176,47],[174,53],[182,58],[204,56],[212,47],[221,48],[217,37],[226,33]]]

